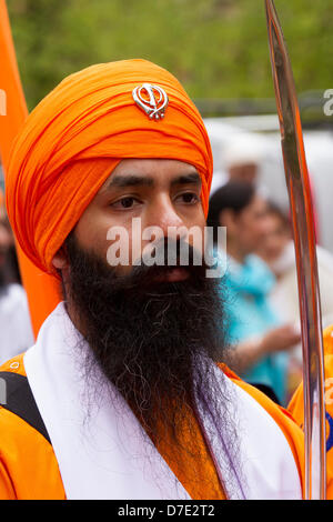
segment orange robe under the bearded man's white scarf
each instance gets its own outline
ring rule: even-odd
[[[221,369],[234,383],[250,393],[279,424],[293,452],[303,489],[303,433],[301,429],[285,410],[241,381],[226,367],[221,365]],[[0,370],[26,375],[23,354],[8,361]],[[192,413],[189,412],[189,414]],[[200,461],[195,458],[191,459],[188,452],[178,453],[172,458],[169,452],[168,456],[163,455],[163,448],[159,448],[159,451],[193,500],[223,500],[225,499],[223,484],[218,478],[212,456],[196,421],[194,425],[196,429],[191,432],[191,438],[198,441],[202,455]],[[185,440],[182,445],[186,446]],[[203,475],[205,480],[198,480],[200,475]],[[51,444],[34,428],[3,408],[0,408],[0,499],[65,499]]]

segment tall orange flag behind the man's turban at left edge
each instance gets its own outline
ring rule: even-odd
[[[6,1],[0,0],[0,153],[6,179],[10,150],[21,124],[28,116],[16,52],[10,31]],[[34,334],[60,301],[59,282],[39,270],[19,245],[18,257],[27,291]]]

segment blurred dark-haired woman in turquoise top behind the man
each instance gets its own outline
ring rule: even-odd
[[[282,325],[269,300],[274,274],[254,254],[266,234],[266,201],[253,184],[230,181],[212,195],[208,225],[226,227],[228,267],[223,287],[229,340],[234,347],[233,369],[284,403],[285,351],[300,342],[300,333],[290,323]]]

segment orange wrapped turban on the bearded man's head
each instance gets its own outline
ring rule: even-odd
[[[150,119],[132,91],[159,86],[169,97],[163,119]],[[41,270],[52,259],[103,182],[123,158],[193,164],[208,212],[212,153],[203,121],[179,81],[145,60],[89,67],[65,78],[28,117],[7,175],[8,214],[22,250]]]

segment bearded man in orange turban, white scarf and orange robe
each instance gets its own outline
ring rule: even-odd
[[[196,108],[148,61],[72,74],[29,116],[8,213],[63,301],[1,368],[1,498],[302,498],[303,433],[224,364],[219,283],[184,234],[211,179]]]

